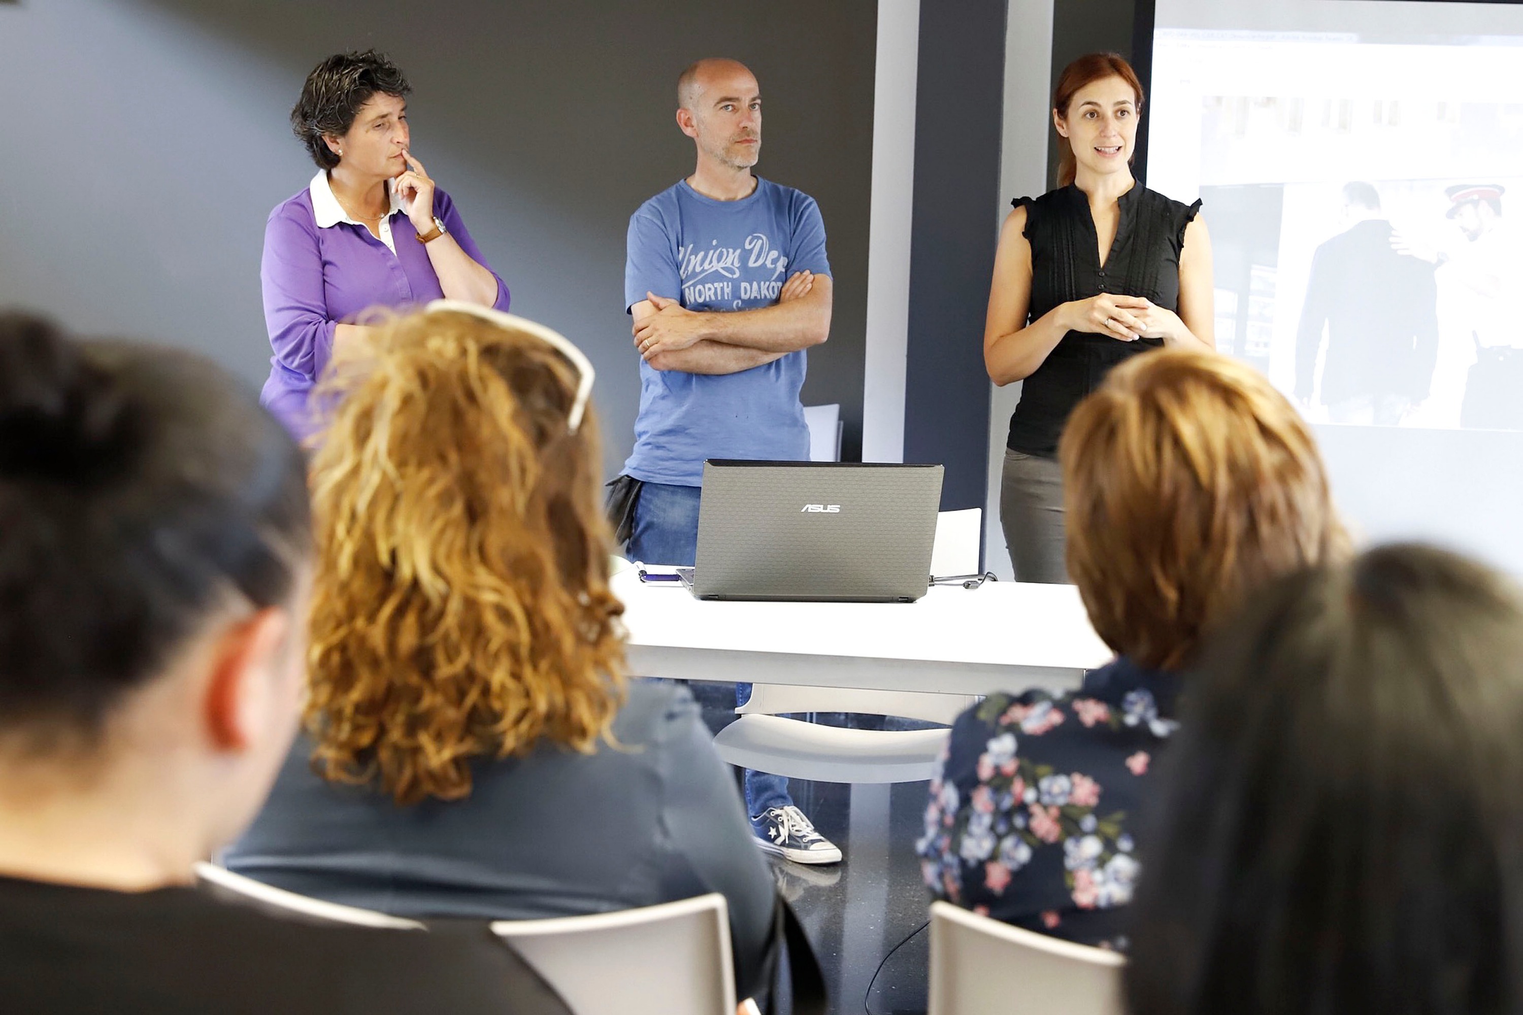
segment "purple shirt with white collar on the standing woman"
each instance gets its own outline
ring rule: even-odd
[[[314,212],[314,205],[317,210]],[[478,265],[492,271],[454,201],[434,190],[434,215]],[[370,307],[422,306],[445,295],[417,231],[393,201],[387,225],[396,253],[349,219],[318,173],[312,184],[276,205],[265,225],[265,256],[259,280],[270,329],[270,380],[259,400],[299,440],[315,428],[308,402],[312,387],[334,352],[334,329],[353,323]],[[509,303],[507,286],[496,277],[498,310]]]

